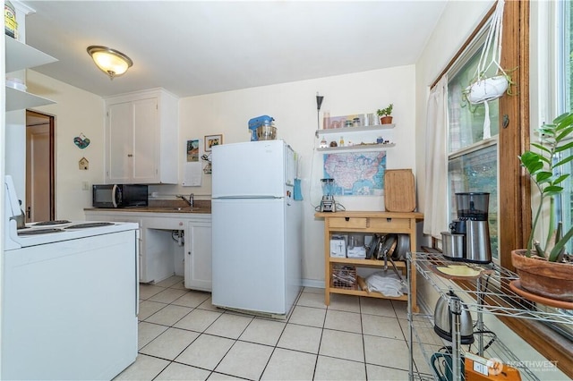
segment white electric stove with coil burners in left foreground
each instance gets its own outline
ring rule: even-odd
[[[4,187],[0,379],[114,378],[137,356],[139,225],[18,229],[11,176]]]

